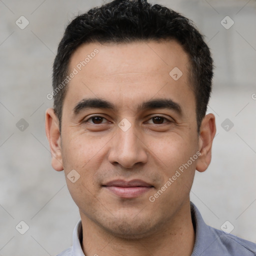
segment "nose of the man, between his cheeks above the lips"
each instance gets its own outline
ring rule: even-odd
[[[117,127],[117,134],[110,140],[108,161],[120,164],[124,168],[132,168],[135,164],[145,163],[148,158],[148,147],[144,134],[131,125],[124,131]]]

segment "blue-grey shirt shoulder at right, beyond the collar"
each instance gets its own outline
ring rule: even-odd
[[[210,231],[215,234],[216,241],[227,255],[243,255],[255,256],[256,243],[242,239],[230,233],[225,233],[221,230],[208,226]]]

